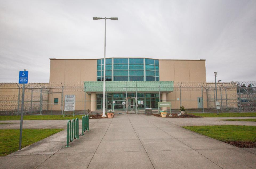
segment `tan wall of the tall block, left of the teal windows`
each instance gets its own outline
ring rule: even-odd
[[[97,59],[51,59],[50,61],[50,82],[82,82],[97,80]],[[75,94],[75,110],[84,110],[85,92],[64,91],[63,101],[65,94]],[[49,102],[51,100],[51,95],[52,94],[49,94]],[[55,98],[59,98],[59,103],[61,102],[61,94],[57,94]],[[91,109],[90,101],[91,95],[86,94],[86,110]],[[52,110],[60,110],[60,106],[61,105],[53,105]],[[51,106],[49,107],[49,110],[51,110]]]

